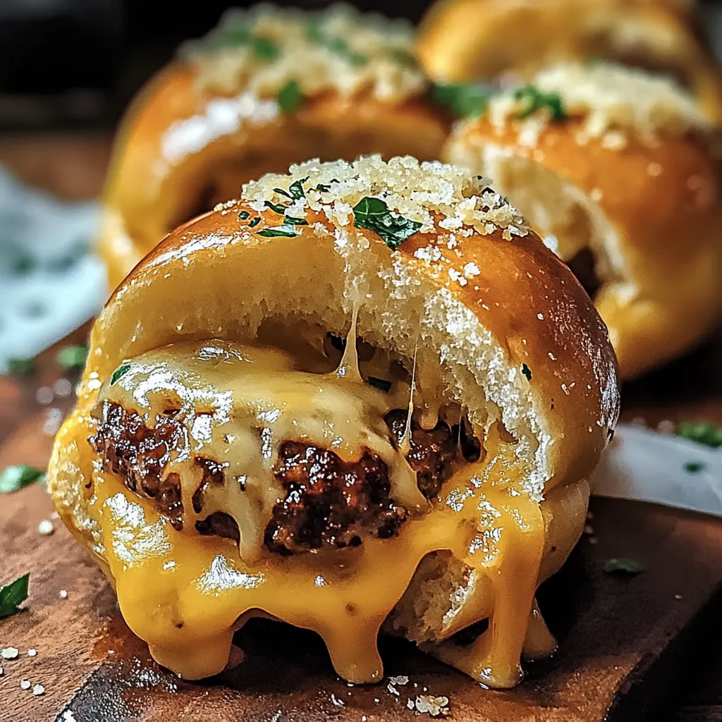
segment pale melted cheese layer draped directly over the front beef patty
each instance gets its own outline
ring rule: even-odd
[[[355,344],[349,341],[349,348]],[[278,350],[227,342],[156,349],[126,367],[115,384],[104,384],[99,400],[133,410],[149,426],[169,412],[182,422],[185,443],[173,450],[164,477],[181,479],[183,531],[193,534],[196,521],[227,513],[238,525],[246,562],[260,557],[264,529],[284,496],[273,468],[287,440],[328,448],[344,461],[369,449],[388,466],[393,499],[409,508],[427,505],[383,420],[393,395],[362,383],[357,367],[348,375],[308,373],[295,370]],[[221,464],[224,482],[204,490],[202,512],[196,513],[199,457]]]

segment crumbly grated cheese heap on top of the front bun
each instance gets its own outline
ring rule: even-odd
[[[388,209],[419,222],[419,232],[458,229],[458,235],[489,235],[503,229],[506,240],[528,229],[518,210],[481,175],[438,161],[419,162],[411,156],[380,155],[321,163],[318,159],[292,165],[288,175],[268,173],[245,183],[241,198],[261,212],[266,201],[279,203],[292,183],[303,181],[305,197],[287,206],[287,217],[305,217],[305,209],[323,212],[336,226],[352,225],[353,207],[365,197],[382,199]],[[473,230],[472,230],[473,229]],[[469,269],[474,271],[474,269]]]

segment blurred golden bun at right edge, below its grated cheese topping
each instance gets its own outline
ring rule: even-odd
[[[544,125],[523,142],[519,123],[489,118],[456,129],[445,159],[494,178],[557,253],[590,248],[622,378],[678,357],[713,328],[722,305],[718,166],[691,136],[625,147],[577,138],[583,122]]]

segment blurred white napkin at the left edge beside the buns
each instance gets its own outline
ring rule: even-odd
[[[0,373],[76,329],[107,296],[88,249],[97,201],[64,203],[0,167]]]

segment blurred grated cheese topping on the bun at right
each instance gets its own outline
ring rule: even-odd
[[[585,118],[580,144],[601,139],[604,147],[617,150],[626,146],[630,133],[653,143],[660,134],[707,134],[714,128],[692,95],[673,80],[617,64],[558,64],[540,71],[532,84],[558,95],[567,116]],[[522,108],[513,90],[492,97],[490,122],[502,128]],[[548,122],[548,111],[538,110],[521,121],[520,140],[523,135],[525,144],[534,146]]]

